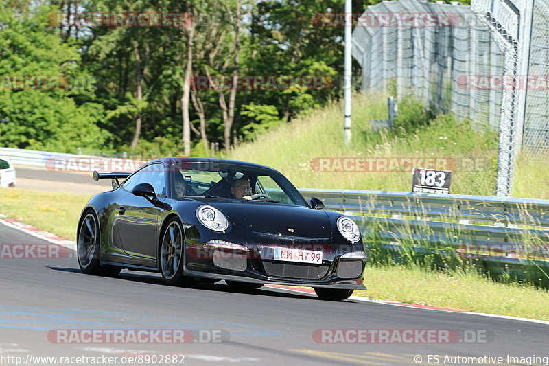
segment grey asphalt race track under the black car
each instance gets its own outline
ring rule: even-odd
[[[436,365],[434,355],[441,365],[473,364],[445,359],[447,355],[491,356],[492,360],[501,356],[501,363],[489,364],[502,365],[509,364],[508,355],[549,356],[548,325],[354,300],[323,301],[315,295],[276,289],[237,293],[224,282],[171,287],[162,284],[156,273],[122,271],[115,278],[84,275],[69,250],[54,254],[42,251],[41,255],[40,251],[30,250],[26,258],[14,258],[21,253],[14,250],[14,244],[41,244],[42,248],[54,244],[1,224],[0,244],[12,244],[9,250],[5,245],[0,247],[0,365],[15,364],[16,358],[8,356],[21,357],[19,361],[27,365],[49,364],[27,359],[29,355],[117,356],[117,362],[110,363],[116,365],[129,363],[130,356],[152,355],[180,357],[172,365],[183,359],[185,365]],[[40,258],[32,258],[32,253]],[[52,338],[52,334],[59,334],[56,330],[174,328],[192,330],[202,338],[185,344],[74,343],[74,339],[56,343]],[[346,344],[327,343],[338,340],[336,333],[331,333],[325,343],[314,336],[319,330],[334,329],[448,330],[460,339],[425,344],[420,336],[419,344],[394,340],[385,344]],[[469,339],[464,338],[464,331]],[[467,342],[473,338],[474,342]],[[417,356],[421,356],[419,363]]]

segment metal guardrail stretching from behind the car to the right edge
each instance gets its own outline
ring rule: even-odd
[[[320,198],[325,209],[350,216],[365,236],[375,234],[391,249],[412,243],[417,251],[453,248],[464,258],[549,266],[549,200],[364,190],[300,192]]]

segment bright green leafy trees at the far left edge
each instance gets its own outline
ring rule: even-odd
[[[48,27],[53,8],[37,6],[32,12],[0,10],[0,144],[14,148],[76,152],[79,146],[104,148],[109,133],[97,127],[103,107],[93,102],[78,103],[90,95],[90,85],[79,89],[75,80],[87,80],[78,69],[80,54],[63,44]],[[29,83],[8,85],[14,76],[47,76],[46,87]],[[11,89],[8,89],[10,88]],[[87,88],[87,89],[86,89]]]

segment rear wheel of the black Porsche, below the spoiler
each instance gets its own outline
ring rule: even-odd
[[[76,253],[80,271],[86,275],[117,276],[121,268],[102,267],[100,264],[100,229],[95,212],[88,210],[78,227]]]

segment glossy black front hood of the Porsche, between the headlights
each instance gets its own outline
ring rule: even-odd
[[[271,202],[209,202],[236,225],[257,233],[329,238],[331,223],[324,211]],[[292,232],[293,229],[293,232]]]

